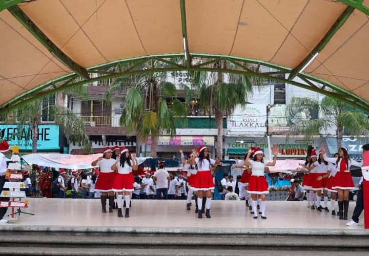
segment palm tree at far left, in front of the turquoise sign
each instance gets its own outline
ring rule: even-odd
[[[8,123],[16,121],[18,133],[31,129],[32,153],[37,153],[38,125],[42,122],[43,101],[45,102],[47,99],[44,98],[26,103],[5,115],[5,120]],[[48,104],[48,108],[51,120],[59,125],[60,130],[64,132],[68,142],[80,143],[86,148],[87,153],[90,153],[92,151],[92,145],[89,136],[85,132],[84,121],[65,106],[51,102],[50,105]],[[14,117],[16,117],[16,120],[14,120]],[[27,135],[28,133],[26,132],[24,134]]]

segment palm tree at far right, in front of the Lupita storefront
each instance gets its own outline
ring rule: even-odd
[[[341,147],[344,134],[354,137],[369,136],[368,116],[339,99],[325,96],[319,103],[315,99],[295,97],[288,107],[296,111],[317,109],[324,117],[302,120],[291,126],[288,135],[304,134],[305,139],[310,139],[322,131],[327,134],[330,130],[336,129],[337,150]]]

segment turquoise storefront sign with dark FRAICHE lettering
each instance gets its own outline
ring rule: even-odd
[[[17,145],[20,150],[32,150],[32,129],[26,127],[18,132],[16,124],[0,125],[0,137],[9,145]],[[38,125],[37,150],[56,150],[59,148],[59,126]]]

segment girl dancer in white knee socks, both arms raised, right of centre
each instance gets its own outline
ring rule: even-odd
[[[251,153],[254,152],[254,157],[252,160],[249,160]],[[268,183],[265,179],[264,172],[269,173],[268,166],[274,166],[277,161],[278,148],[273,148],[273,162],[263,162],[263,152],[260,148],[250,148],[248,151],[248,155],[245,159],[245,166],[251,167],[251,177],[249,180],[248,193],[251,194],[252,197],[252,211],[254,212],[254,219],[258,218],[258,210],[257,210],[257,199],[258,195],[260,195],[260,211],[261,218],[267,219],[265,216],[265,208],[267,206],[267,202],[265,202],[265,196],[269,193]]]

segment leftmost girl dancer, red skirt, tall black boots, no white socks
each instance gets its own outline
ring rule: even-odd
[[[111,169],[115,160],[111,158],[112,151],[109,147],[104,148],[103,157],[97,158],[91,163],[92,166],[98,165],[100,167],[100,173],[95,184],[95,191],[101,192],[101,206],[103,212],[106,212],[106,201],[109,194],[109,212],[113,212],[114,209],[114,191],[113,183],[115,178],[115,172]]]

